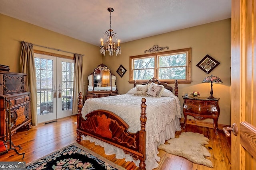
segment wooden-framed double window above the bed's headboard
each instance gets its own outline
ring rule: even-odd
[[[130,83],[147,82],[154,77],[161,82],[191,82],[191,48],[130,57]]]

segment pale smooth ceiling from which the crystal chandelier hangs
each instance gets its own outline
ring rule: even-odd
[[[231,0],[0,0],[0,13],[100,45],[112,29],[120,43],[231,18]]]

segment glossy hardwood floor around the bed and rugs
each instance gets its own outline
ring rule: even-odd
[[[18,152],[26,153],[24,160],[22,160],[22,155],[17,155],[14,150],[10,150],[0,156],[0,161],[25,161],[28,163],[76,142],[76,125],[74,122],[76,122],[76,115],[58,119],[58,121],[48,124],[41,123],[29,131],[19,130],[12,135],[12,141],[15,145],[21,145],[22,150],[18,150]],[[185,158],[159,150],[158,156],[161,157],[161,160],[158,168],[154,170],[231,170],[231,142],[230,138],[225,137],[223,131],[218,131],[219,135],[215,135],[214,129],[186,125],[186,129],[177,131],[175,136],[178,137],[184,131],[202,133],[210,139],[209,145],[206,147],[209,148],[212,155],[208,159],[212,161],[214,168],[194,164]],[[115,155],[106,155],[104,149],[94,145],[94,143],[81,141],[80,144],[128,170],[138,170],[133,162],[116,159]]]

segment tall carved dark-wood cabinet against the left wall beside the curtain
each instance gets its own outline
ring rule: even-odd
[[[0,71],[0,140],[6,135],[5,98],[10,100],[12,133],[22,126],[31,128],[31,99],[26,83],[26,74]]]

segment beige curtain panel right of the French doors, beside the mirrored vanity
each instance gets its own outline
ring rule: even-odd
[[[84,92],[83,85],[83,55],[75,54],[75,66],[74,66],[74,89],[73,89],[73,114],[77,114],[77,104],[79,92]]]

